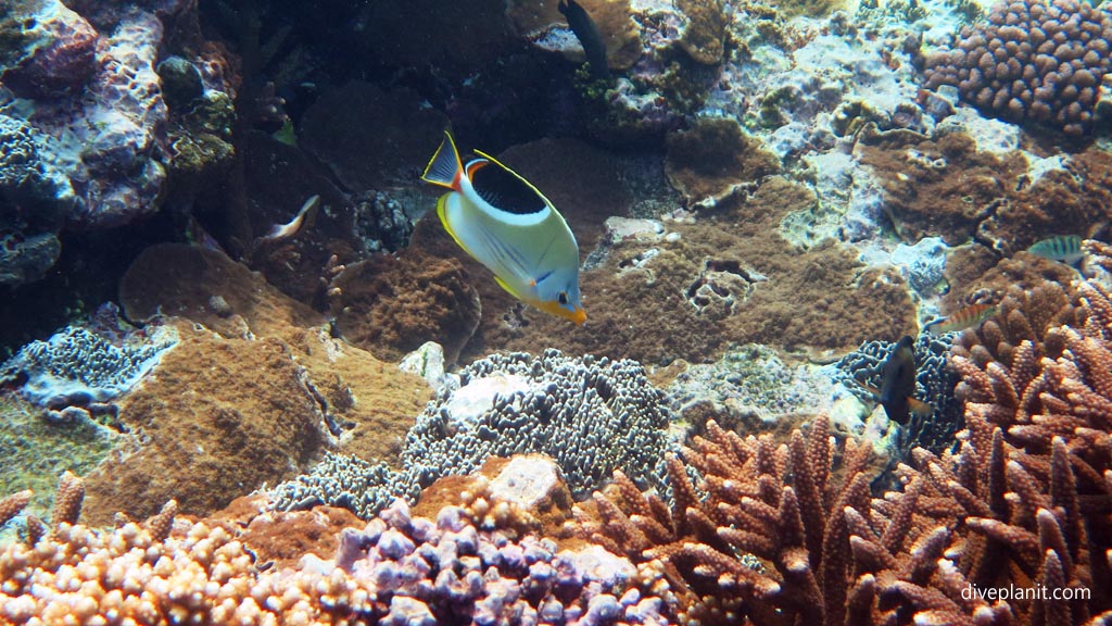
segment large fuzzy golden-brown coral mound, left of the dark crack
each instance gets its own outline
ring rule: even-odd
[[[119,401],[136,440],[86,477],[90,521],[143,518],[171,498],[189,513],[222,508],[305,467],[324,442],[324,408],[282,342],[178,332],[155,375]]]

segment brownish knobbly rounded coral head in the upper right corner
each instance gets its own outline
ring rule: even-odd
[[[997,2],[965,27],[956,46],[926,61],[927,87],[957,87],[981,110],[1041,123],[1080,139],[1093,128],[1104,76],[1112,71],[1112,16],[1075,0]]]

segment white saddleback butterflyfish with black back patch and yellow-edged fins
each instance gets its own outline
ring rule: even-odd
[[[579,245],[567,222],[528,180],[490,155],[475,154],[464,165],[445,131],[425,168],[423,180],[451,189],[436,205],[440,223],[514,297],[583,324]]]

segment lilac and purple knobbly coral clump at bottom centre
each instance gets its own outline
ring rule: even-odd
[[[389,610],[358,617],[381,624],[667,624],[662,599],[637,589],[624,558],[598,546],[557,551],[534,536],[513,541],[457,507],[434,525],[397,500],[364,530],[345,529],[335,563],[373,581]]]

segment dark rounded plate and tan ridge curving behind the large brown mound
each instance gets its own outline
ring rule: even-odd
[[[330,429],[344,431],[341,449],[363,458],[394,458],[431,393],[419,378],[330,338],[320,314],[218,252],[151,246],[120,281],[120,302],[132,320],[161,313],[228,340],[280,340],[305,369]]]

